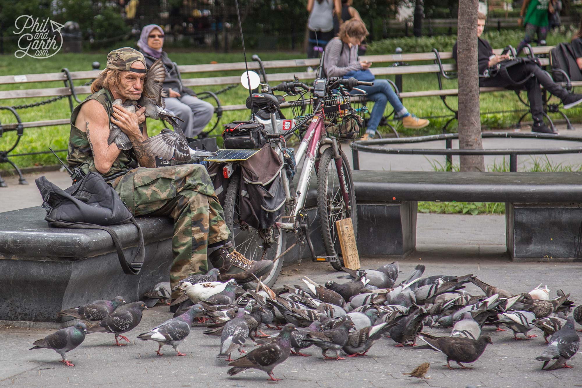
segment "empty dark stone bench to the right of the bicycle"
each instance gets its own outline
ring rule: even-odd
[[[505,203],[513,261],[582,261],[582,172],[353,171],[353,179],[364,257],[408,255],[418,201],[457,201]]]

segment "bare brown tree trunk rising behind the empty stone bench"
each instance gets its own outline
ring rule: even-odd
[[[459,149],[482,149],[477,62],[478,0],[459,2],[457,69],[459,72]],[[461,171],[485,171],[482,155],[460,157]]]

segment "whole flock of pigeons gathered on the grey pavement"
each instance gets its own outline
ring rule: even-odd
[[[346,283],[320,285],[304,276],[303,284],[274,288],[258,281],[255,290],[243,290],[233,280],[217,281],[218,270],[191,276],[176,286],[183,295],[171,304],[177,308],[173,318],[137,338],[157,342],[159,356],[164,355],[163,345],[172,346],[176,356],[184,356],[179,345],[196,323],[206,327],[203,334],[220,338],[217,358],[228,362],[228,375],[254,368],[274,381],[279,380],[274,376],[277,365],[290,355],[311,356],[304,350],[312,346],[321,349],[324,359],[342,360],[342,356],[365,356],[382,341],[442,352],[448,369],[455,369],[451,361],[462,369],[473,369],[464,364],[477,361],[495,343],[495,332],[506,327],[515,340],[537,337],[531,332],[543,336],[547,345],[545,350],[540,347],[535,360],[550,371],[572,368],[567,362],[580,347],[574,324],[582,324],[582,306],[576,307],[562,290],[551,297],[550,290],[541,285],[529,292],[510,292],[472,274],[423,277],[423,265],[398,282],[398,262],[375,270],[343,270],[346,274],[339,278],[348,279]],[[464,290],[467,284],[476,285],[482,294],[469,294]],[[126,345],[119,343],[119,338],[130,343],[122,334],[140,324],[148,306],[170,304],[171,292],[169,283],[159,283],[145,293],[143,301],[126,304],[122,297],[115,297],[63,310],[59,316],[76,318],[78,323],[35,341],[31,349],[55,350],[63,364],[74,366],[65,354],[83,343],[87,334],[112,333],[116,345]],[[496,330],[484,334],[485,325]],[[427,327],[450,328],[450,336],[426,333]],[[267,329],[280,331],[269,336],[263,331]],[[244,347],[249,340],[254,347],[247,352]],[[425,362],[403,375],[428,379],[429,369],[430,363]]]

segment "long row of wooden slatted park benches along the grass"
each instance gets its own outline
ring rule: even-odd
[[[548,54],[552,46],[534,47],[534,54]],[[494,50],[495,52],[501,52],[503,49]],[[415,53],[415,54],[385,54],[385,55],[366,55],[362,57],[368,61],[375,62],[377,66],[371,68],[372,73],[376,76],[396,76],[396,82],[392,82],[399,97],[402,98],[424,98],[438,96],[442,99],[445,107],[453,112],[453,117],[447,122],[446,127],[449,123],[456,118],[456,110],[451,108],[447,104],[446,98],[450,96],[456,96],[458,89],[443,89],[441,77],[449,77],[450,73],[456,70],[455,64],[442,64],[443,60],[449,60],[452,58],[452,52],[438,52],[434,50],[433,52],[425,53]],[[425,62],[432,61],[433,64],[426,64]],[[542,65],[548,65],[548,59],[541,59]],[[294,76],[297,76],[301,80],[313,79],[314,72],[305,71],[307,66],[317,66],[319,64],[319,59],[285,59],[277,61],[264,61],[265,69],[267,70],[269,82],[281,82],[285,80],[292,80]],[[94,64],[94,67],[98,68],[98,63]],[[249,69],[258,70],[258,62],[250,61],[248,63]],[[297,72],[271,72],[271,70],[276,71],[279,69],[293,69],[296,68]],[[197,77],[197,78],[184,78],[183,84],[187,87],[194,87],[197,90],[203,89],[208,86],[219,86],[219,85],[230,85],[238,84],[240,82],[240,75],[236,76],[221,76],[220,74],[226,71],[237,71],[241,73],[246,69],[244,62],[235,63],[225,63],[225,64],[203,64],[203,65],[182,65],[179,66],[180,73],[182,75],[191,75],[200,72],[214,72],[217,76],[214,77]],[[30,82],[55,82],[60,81],[64,83],[63,87],[47,87],[44,89],[22,89],[22,90],[3,90],[0,91],[0,100],[9,100],[13,98],[63,98],[69,99],[70,109],[73,109],[73,100],[75,103],[80,103],[78,95],[89,94],[90,86],[74,86],[71,87],[73,81],[77,80],[91,80],[98,75],[100,70],[88,70],[80,72],[69,72],[67,69],[63,69],[60,73],[43,73],[43,74],[29,74],[29,75],[16,75],[16,76],[0,76],[1,84],[22,84]],[[412,75],[412,74],[422,74],[422,73],[433,73],[437,75],[439,79],[439,89],[435,90],[420,90],[420,91],[403,91],[402,86],[402,76]],[[580,86],[582,82],[572,82],[572,86]],[[506,89],[498,87],[481,87],[481,93],[491,93],[493,91],[506,91]],[[207,92],[208,96],[212,96],[212,92]],[[217,101],[219,101],[217,97]],[[523,100],[521,100],[524,102]],[[243,102],[243,101],[241,101]],[[0,101],[1,105],[1,101]],[[225,111],[238,111],[246,110],[244,104],[232,104],[232,105],[221,105],[217,104],[215,109],[218,118],[221,117],[222,112]],[[288,103],[283,103],[282,108],[288,107]],[[553,106],[553,105],[552,105]],[[2,107],[2,109],[7,109],[8,107]],[[557,109],[553,106],[552,109]],[[556,110],[558,111],[558,110]],[[567,119],[563,112],[559,111]],[[27,128],[38,128],[42,126],[51,125],[68,125],[69,118],[62,119],[52,119],[52,120],[42,120],[33,122],[22,122],[17,115],[16,111],[13,111],[16,117],[16,122],[12,124],[3,124],[0,126],[0,137],[3,132],[9,130],[16,130],[17,140],[16,143],[8,150],[0,150],[0,163],[10,163],[15,167],[16,171],[19,173],[19,182],[21,184],[26,184],[26,180],[20,173],[20,170],[16,165],[9,160],[9,155],[16,147],[24,133],[24,129]],[[527,112],[526,112],[527,114]],[[525,114],[521,117],[523,117]],[[520,121],[521,121],[520,119]],[[389,123],[388,123],[389,124]],[[569,121],[568,121],[569,124]],[[217,120],[218,125],[218,120]],[[519,122],[517,123],[519,125]],[[570,125],[570,124],[569,124]],[[392,126],[393,132],[396,130]],[[48,150],[47,150],[48,152]],[[6,186],[0,177],[0,187]]]

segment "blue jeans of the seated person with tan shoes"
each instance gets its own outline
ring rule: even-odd
[[[376,79],[374,80],[374,86],[358,86],[358,88],[368,93],[368,101],[374,101],[374,108],[370,112],[370,120],[368,121],[366,132],[376,132],[388,102],[394,107],[396,115],[402,117],[408,113],[387,80]],[[352,90],[351,94],[361,94],[361,91]]]

